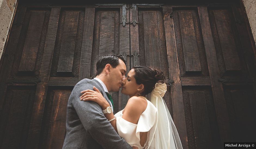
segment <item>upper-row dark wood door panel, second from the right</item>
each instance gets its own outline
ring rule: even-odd
[[[209,76],[197,8],[173,9],[181,76]]]

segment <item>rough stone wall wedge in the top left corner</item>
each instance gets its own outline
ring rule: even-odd
[[[0,0],[0,58],[13,18],[17,0]]]

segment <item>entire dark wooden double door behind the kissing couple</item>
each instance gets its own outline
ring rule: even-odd
[[[255,141],[255,47],[239,3],[19,4],[1,59],[0,147],[61,148],[74,85],[122,54],[172,80],[164,96],[183,148]],[[112,93],[115,112],[128,97]]]

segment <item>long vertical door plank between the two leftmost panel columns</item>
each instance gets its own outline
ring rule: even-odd
[[[36,87],[35,102],[33,105],[33,112],[26,148],[38,148],[42,117],[44,113],[44,103],[48,88],[47,84],[50,77],[51,61],[53,58],[59,16],[60,8],[52,8],[45,40],[44,54],[40,68],[41,73],[38,77],[41,82],[39,82]]]

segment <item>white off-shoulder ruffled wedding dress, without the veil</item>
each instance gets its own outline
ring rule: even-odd
[[[146,99],[147,100],[147,99]],[[148,142],[148,139],[142,147],[140,142],[140,132],[148,132],[156,123],[157,120],[157,108],[147,100],[147,108],[139,117],[138,124],[133,124],[122,118],[123,110],[115,114],[117,121],[117,132],[120,137],[130,144],[136,146],[139,149],[143,149]],[[148,135],[149,136],[149,135]],[[147,147],[145,147],[147,148]]]

